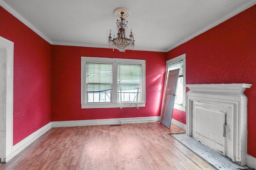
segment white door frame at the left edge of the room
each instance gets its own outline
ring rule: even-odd
[[[0,46],[6,49],[6,95],[5,98],[5,152],[4,160],[12,153],[13,147],[13,61],[14,61],[14,43],[0,36]]]

